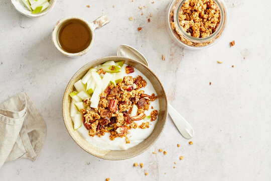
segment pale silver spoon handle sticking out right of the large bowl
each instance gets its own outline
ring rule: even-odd
[[[170,105],[168,104],[168,111],[177,129],[186,139],[194,136],[192,126]]]

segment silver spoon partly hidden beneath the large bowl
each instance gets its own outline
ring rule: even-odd
[[[117,48],[117,56],[128,57],[149,66],[145,56],[129,45],[120,45]],[[183,137],[186,139],[192,138],[194,136],[194,130],[192,126],[170,104],[168,104],[168,112],[175,126],[183,135]]]

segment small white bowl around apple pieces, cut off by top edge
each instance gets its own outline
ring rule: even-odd
[[[21,2],[21,0],[11,0],[12,5],[14,6],[14,8],[21,13],[22,15],[25,15],[27,17],[30,18],[37,18],[37,17],[41,17],[45,14],[47,14],[51,9],[53,9],[53,7],[55,6],[56,0],[49,0],[50,6],[44,10],[41,13],[37,13],[37,14],[32,14],[31,11],[29,11],[24,4]]]

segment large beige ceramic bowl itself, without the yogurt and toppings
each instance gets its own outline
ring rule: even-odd
[[[131,147],[127,150],[121,150],[121,151],[104,150],[92,145],[90,142],[86,141],[84,137],[78,131],[75,131],[73,129],[73,122],[70,118],[71,98],[69,94],[74,91],[73,84],[79,79],[81,79],[84,76],[84,74],[88,71],[89,68],[97,66],[99,64],[102,64],[110,60],[113,60],[113,61],[125,60],[126,64],[131,65],[134,68],[137,68],[145,76],[147,76],[149,80],[152,82],[158,94],[157,96],[159,98],[159,104],[160,104],[159,117],[152,134],[140,144],[134,147]],[[167,104],[166,93],[160,80],[157,78],[154,72],[152,72],[152,70],[150,70],[146,65],[138,61],[126,58],[126,57],[109,56],[109,57],[99,58],[85,64],[73,75],[73,77],[71,78],[71,80],[69,81],[66,87],[66,90],[63,96],[62,114],[63,114],[65,126],[70,136],[82,149],[84,149],[86,152],[94,156],[97,156],[99,158],[109,159],[109,160],[121,160],[121,159],[127,159],[127,158],[137,156],[143,153],[144,151],[146,151],[150,146],[152,146],[155,143],[155,141],[159,138],[159,136],[161,135],[165,127],[165,123],[168,116],[168,104]]]

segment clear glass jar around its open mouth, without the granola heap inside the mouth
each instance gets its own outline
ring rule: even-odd
[[[222,0],[213,0],[220,10],[220,23],[216,30],[205,38],[195,38],[186,33],[180,25],[179,12],[186,0],[173,0],[168,7],[167,26],[170,37],[181,47],[199,50],[214,45],[225,33],[227,8]]]

